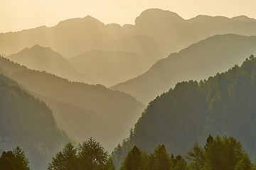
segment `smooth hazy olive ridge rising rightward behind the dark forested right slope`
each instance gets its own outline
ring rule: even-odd
[[[112,86],[149,103],[179,81],[206,79],[256,54],[256,36],[215,35],[156,62],[139,77]]]

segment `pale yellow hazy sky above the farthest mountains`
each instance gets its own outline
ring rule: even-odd
[[[87,15],[103,23],[134,24],[147,8],[174,11],[183,18],[198,14],[256,18],[255,0],[0,0],[0,33],[55,26]]]

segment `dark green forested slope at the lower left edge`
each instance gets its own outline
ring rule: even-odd
[[[50,158],[68,141],[46,103],[0,75],[0,150],[18,145],[32,169],[46,169]]]

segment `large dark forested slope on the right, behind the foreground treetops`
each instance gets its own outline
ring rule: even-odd
[[[133,145],[152,152],[159,144],[172,154],[186,154],[210,135],[234,136],[256,157],[256,59],[217,74],[206,81],[183,81],[151,101],[129,139],[113,154]],[[117,154],[119,153],[119,154]]]

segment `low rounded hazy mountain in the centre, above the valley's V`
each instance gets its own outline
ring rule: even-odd
[[[137,77],[149,69],[154,60],[134,52],[92,50],[71,57],[68,62],[87,77],[106,86]],[[146,64],[148,63],[148,64]]]

